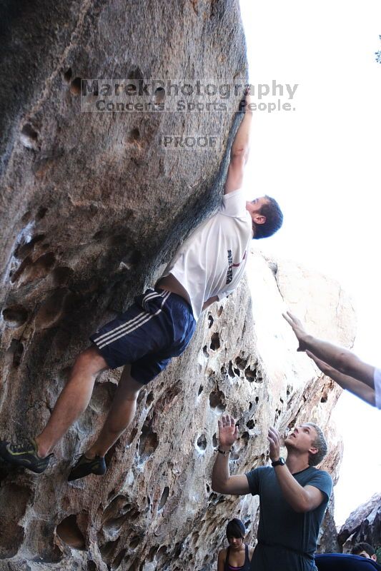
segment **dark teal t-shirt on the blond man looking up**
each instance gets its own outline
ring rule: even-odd
[[[320,524],[332,492],[327,472],[310,466],[294,474],[301,486],[321,490],[323,502],[310,512],[297,513],[284,500],[274,468],[247,473],[249,490],[259,495],[258,545],[252,557],[254,571],[312,571]]]

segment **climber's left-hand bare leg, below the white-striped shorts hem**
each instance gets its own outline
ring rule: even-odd
[[[44,430],[35,440],[38,454],[44,458],[69,430],[89,404],[97,375],[108,367],[95,347],[80,353],[71,369],[70,377],[54,406]]]

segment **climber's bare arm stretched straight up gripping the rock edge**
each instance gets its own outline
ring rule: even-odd
[[[237,191],[242,186],[244,176],[244,166],[249,157],[249,138],[252,124],[252,109],[250,108],[251,98],[249,88],[245,91],[244,118],[239,125],[237,134],[230,151],[230,163],[227,171],[224,194]]]

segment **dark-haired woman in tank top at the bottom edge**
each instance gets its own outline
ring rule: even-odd
[[[254,547],[244,543],[246,530],[237,517],[230,520],[226,527],[229,547],[218,554],[217,571],[249,571]]]

